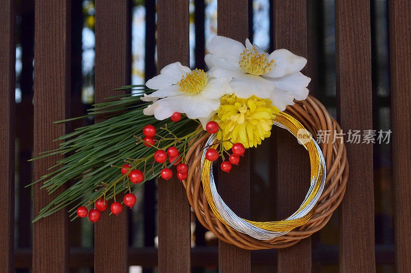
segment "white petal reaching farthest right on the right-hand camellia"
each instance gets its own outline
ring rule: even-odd
[[[304,76],[301,72],[294,72],[280,78],[265,79],[273,82],[276,88],[292,93],[296,100],[305,100],[308,96],[308,89],[306,87],[311,79]]]

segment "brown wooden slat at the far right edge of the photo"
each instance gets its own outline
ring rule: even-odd
[[[411,3],[389,2],[389,55],[391,76],[391,126],[393,131],[394,229],[396,271],[411,268],[411,125],[407,114],[411,112]]]

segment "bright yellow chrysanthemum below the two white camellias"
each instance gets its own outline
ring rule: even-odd
[[[218,140],[241,142],[244,147],[257,147],[261,140],[271,135],[271,126],[278,108],[272,106],[269,99],[252,96],[248,99],[226,95],[220,99],[221,105],[213,116],[220,129]],[[224,147],[231,149],[232,144],[223,142]]]

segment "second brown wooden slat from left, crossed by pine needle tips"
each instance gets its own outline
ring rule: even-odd
[[[66,118],[69,112],[70,34],[70,2],[35,2],[34,155],[58,148],[52,140],[66,132],[64,124],[52,122]],[[34,161],[34,180],[48,173],[61,158],[53,155]],[[34,215],[63,191],[48,194],[40,187],[41,183],[33,187]],[[62,209],[33,224],[34,272],[68,271],[67,223],[66,210]]]

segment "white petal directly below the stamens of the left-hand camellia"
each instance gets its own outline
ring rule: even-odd
[[[182,103],[182,113],[188,118],[208,117],[213,111],[220,107],[220,99],[209,100],[200,94],[184,96]]]

